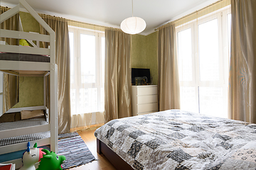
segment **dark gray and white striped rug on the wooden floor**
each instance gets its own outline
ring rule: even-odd
[[[62,164],[63,169],[70,169],[95,160],[77,132],[58,135],[58,154],[66,157],[65,163]]]

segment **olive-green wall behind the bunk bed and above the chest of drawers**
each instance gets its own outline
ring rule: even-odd
[[[40,32],[39,23],[29,13],[20,12],[25,32]],[[131,68],[150,69],[152,84],[158,84],[157,69],[157,33],[150,35],[132,35]],[[35,89],[36,88],[36,89]],[[43,77],[21,77],[19,103],[14,106],[42,106]]]

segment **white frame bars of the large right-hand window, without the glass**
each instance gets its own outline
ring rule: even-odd
[[[229,68],[229,45],[228,45],[228,14],[231,13],[230,6],[221,8],[218,11],[209,13],[206,16],[202,16],[188,23],[184,23],[181,26],[176,26],[176,51],[178,55],[178,33],[191,28],[191,57],[192,57],[192,81],[182,81],[180,80],[180,86],[188,86],[195,88],[195,100],[198,103],[198,112],[200,113],[200,98],[199,98],[199,87],[223,87],[223,98],[225,98],[225,103],[228,104],[228,74]],[[202,23],[206,23],[215,18],[218,18],[218,53],[219,53],[219,80],[218,81],[201,81],[200,80],[200,63],[199,63],[199,49],[198,49],[198,26]],[[220,26],[221,25],[221,26]],[[226,35],[223,40],[224,35]],[[179,60],[178,60],[179,61]],[[179,65],[179,64],[178,64]],[[225,108],[228,109],[228,106]],[[227,113],[228,116],[228,113]]]

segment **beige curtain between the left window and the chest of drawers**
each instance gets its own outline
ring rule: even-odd
[[[105,123],[132,115],[131,35],[105,30]]]

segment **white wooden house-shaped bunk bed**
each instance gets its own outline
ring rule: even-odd
[[[38,23],[43,26],[49,35],[41,35],[35,33],[25,33],[16,30],[0,30],[1,38],[14,38],[17,40],[27,40],[33,47],[17,46],[17,45],[0,45],[0,70],[8,74],[16,74],[18,76],[41,76],[44,77],[44,106],[11,108],[9,113],[17,113],[21,111],[43,110],[46,118],[21,120],[13,123],[0,123],[0,141],[10,141],[15,138],[26,138],[28,136],[40,136],[36,138],[28,138],[32,143],[37,142],[38,147],[50,145],[50,150],[58,152],[58,99],[57,99],[57,65],[55,64],[55,33],[38,16],[38,13],[29,6],[26,1],[20,0],[19,4],[9,11],[2,13],[0,23],[16,15],[23,7]],[[50,48],[42,48],[33,42],[50,42]],[[46,107],[46,77],[50,77],[50,106]],[[49,118],[49,121],[48,121]],[[0,146],[0,154],[8,155],[11,152],[18,152],[26,149],[27,140],[14,140],[6,142]],[[1,162],[1,160],[0,160]],[[21,158],[9,161],[16,163],[16,167],[22,165]],[[2,162],[1,162],[2,163]],[[4,162],[7,163],[7,162]]]

